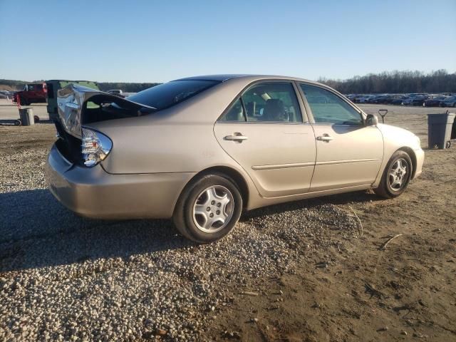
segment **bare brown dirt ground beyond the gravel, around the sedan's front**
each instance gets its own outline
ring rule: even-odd
[[[367,113],[379,108],[361,107]],[[427,147],[425,113],[442,110],[387,107],[385,123],[408,128]],[[53,126],[46,123],[0,126],[1,149],[50,145],[54,135]],[[204,322],[202,338],[456,341],[456,146],[425,152],[423,174],[396,199],[354,192],[301,201],[303,206],[331,203],[353,209],[362,222],[362,237],[351,239],[343,249],[309,251],[295,274],[250,279],[242,291],[253,294],[242,294],[233,284],[232,305]],[[402,235],[380,248],[398,234]]]

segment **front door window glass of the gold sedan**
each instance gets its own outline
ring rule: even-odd
[[[363,125],[361,114],[351,107],[346,101],[339,98],[331,91],[300,84],[306,96],[307,103],[314,115],[315,123],[326,123],[328,125]]]

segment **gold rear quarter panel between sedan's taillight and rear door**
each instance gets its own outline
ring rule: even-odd
[[[221,83],[150,115],[90,124],[113,140],[103,168],[113,174],[199,172],[217,165],[240,169],[217,142],[214,123],[246,82]]]

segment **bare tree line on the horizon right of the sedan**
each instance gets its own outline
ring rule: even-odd
[[[448,73],[443,69],[430,73],[385,71],[346,80],[320,78],[318,82],[335,88],[343,94],[456,93],[456,73]]]

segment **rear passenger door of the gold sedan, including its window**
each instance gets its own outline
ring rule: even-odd
[[[214,125],[219,144],[263,197],[309,191],[316,143],[296,90],[291,82],[255,83]]]

